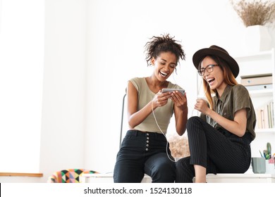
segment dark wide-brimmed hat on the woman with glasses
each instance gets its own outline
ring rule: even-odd
[[[240,71],[238,63],[229,55],[226,50],[216,45],[212,45],[209,48],[200,49],[199,51],[194,53],[193,63],[195,65],[195,68],[199,68],[199,64],[200,61],[202,61],[202,58],[208,55],[218,56],[219,58],[222,58],[224,61],[226,61],[226,63],[228,63],[228,66],[231,69],[234,77],[238,76]]]

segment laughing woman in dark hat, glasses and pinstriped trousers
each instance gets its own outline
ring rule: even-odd
[[[206,182],[208,173],[244,173],[250,167],[250,143],[256,115],[249,93],[238,84],[238,63],[219,46],[193,56],[205,96],[197,99],[200,117],[187,123],[190,157],[176,163],[176,182]]]

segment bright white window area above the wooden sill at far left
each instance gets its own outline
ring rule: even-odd
[[[0,172],[39,172],[43,69],[44,1],[1,0]]]

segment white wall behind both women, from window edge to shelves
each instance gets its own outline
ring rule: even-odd
[[[212,44],[243,51],[245,27],[227,0],[45,2],[44,177],[37,182],[65,168],[114,170],[126,82],[152,72],[143,53],[149,37],[170,33],[182,42],[187,60],[170,80],[186,90],[189,116],[197,94],[193,53]]]

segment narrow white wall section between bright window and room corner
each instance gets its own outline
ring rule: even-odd
[[[45,1],[40,172],[82,168],[86,111],[86,1]]]

